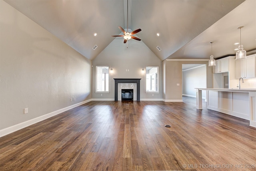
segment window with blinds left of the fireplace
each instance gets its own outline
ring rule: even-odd
[[[97,91],[108,91],[108,66],[96,66]]]

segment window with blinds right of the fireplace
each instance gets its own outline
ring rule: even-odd
[[[146,67],[146,91],[158,92],[158,66]]]

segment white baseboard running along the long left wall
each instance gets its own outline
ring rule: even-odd
[[[58,115],[58,114],[60,114],[60,113],[62,113],[62,112],[64,112],[64,111],[67,111],[67,110],[72,109],[72,108],[74,108],[74,107],[83,105],[84,103],[88,103],[88,102],[90,102],[90,101],[92,101],[92,99],[89,99],[89,100],[86,100],[86,101],[82,101],[82,102],[80,102],[80,103],[76,103],[76,104],[74,104],[74,105],[71,105],[71,106],[64,107],[64,108],[62,108],[62,109],[53,111],[53,112],[48,113],[48,114],[46,114],[46,115],[42,115],[42,116],[36,117],[36,118],[34,118],[34,119],[30,119],[30,120],[28,120],[28,121],[24,121],[24,122],[22,122],[22,123],[18,123],[18,124],[16,124],[16,125],[13,125],[13,126],[10,126],[10,127],[4,128],[4,129],[1,129],[1,130],[0,130],[0,137],[3,137],[4,135],[8,135],[8,134],[10,134],[10,133],[13,133],[13,132],[18,131],[18,130],[20,130],[20,129],[23,129],[23,128],[25,128],[25,127],[28,127],[28,126],[30,126],[30,125],[33,125],[33,124],[38,123],[38,122],[40,122],[40,121],[43,121],[43,120],[45,120],[45,119],[48,119],[48,118],[50,118],[50,117],[52,117],[52,116]]]

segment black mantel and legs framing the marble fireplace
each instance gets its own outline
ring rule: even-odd
[[[140,101],[140,80],[141,78],[114,78],[115,80],[115,101],[118,101],[118,83],[136,83],[137,101]]]

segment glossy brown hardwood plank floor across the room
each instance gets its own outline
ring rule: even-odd
[[[1,137],[0,170],[256,170],[249,121],[183,100],[70,109]]]

